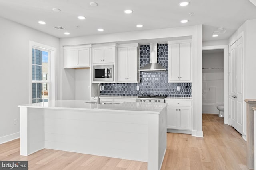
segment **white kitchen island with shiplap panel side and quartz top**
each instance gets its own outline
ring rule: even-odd
[[[20,105],[20,154],[56,149],[148,162],[161,168],[166,104],[81,100]]]

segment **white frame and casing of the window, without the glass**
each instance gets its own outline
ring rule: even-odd
[[[48,83],[48,102],[55,101],[56,96],[56,83],[55,83],[55,74],[56,74],[56,51],[57,49],[54,47],[50,47],[48,45],[36,43],[33,41],[29,41],[29,84],[28,84],[28,101],[32,104],[32,83]],[[38,49],[41,51],[48,52],[48,80],[32,80],[32,49]]]

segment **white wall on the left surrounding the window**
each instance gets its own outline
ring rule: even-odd
[[[0,23],[0,80],[2,80],[0,143],[2,143],[20,136],[20,110],[17,106],[28,104],[29,41],[57,48],[58,60],[59,39],[4,18],[0,18]],[[59,85],[57,82],[57,86]],[[18,119],[18,124],[13,125],[15,118]]]

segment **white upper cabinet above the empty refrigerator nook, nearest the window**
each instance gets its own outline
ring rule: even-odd
[[[90,67],[90,47],[64,47],[64,68]]]

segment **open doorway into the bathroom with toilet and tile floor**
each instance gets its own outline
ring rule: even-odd
[[[202,112],[209,121],[220,122],[224,113],[224,50],[202,51]],[[216,117],[218,116],[218,117]],[[216,119],[218,118],[218,119]]]

